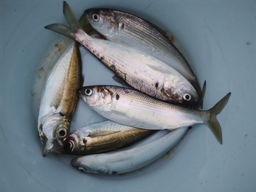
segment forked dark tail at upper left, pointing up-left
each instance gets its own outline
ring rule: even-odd
[[[71,28],[61,24],[52,24],[52,25],[46,26],[45,29],[49,29],[51,31],[57,32],[61,35],[64,35],[74,40],[75,40],[74,35],[77,32],[82,31],[83,33],[85,33],[79,21],[76,19],[74,13],[72,12],[70,6],[65,1],[63,2],[63,14],[66,17]]]

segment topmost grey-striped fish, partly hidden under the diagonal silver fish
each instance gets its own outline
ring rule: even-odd
[[[105,39],[129,44],[173,67],[201,95],[201,88],[193,70],[162,29],[133,14],[113,9],[88,9],[84,11],[84,16]]]

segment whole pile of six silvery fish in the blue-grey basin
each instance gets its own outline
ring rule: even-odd
[[[45,27],[74,42],[53,66],[42,93],[38,132],[43,156],[49,152],[80,155],[71,163],[81,171],[121,174],[161,157],[195,124],[206,124],[222,144],[216,115],[225,107],[231,93],[211,109],[197,110],[199,106],[202,108],[206,83],[201,90],[189,64],[162,29],[122,11],[89,9],[84,12],[84,19],[99,34],[90,36],[89,28],[80,25],[66,2],[63,2],[63,13],[70,28],[60,24]],[[78,43],[128,88],[81,87]],[[110,120],[70,133],[78,96]],[[157,140],[114,151],[165,129],[171,132]]]

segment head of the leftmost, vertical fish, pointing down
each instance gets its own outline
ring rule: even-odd
[[[61,153],[63,144],[69,136],[70,125],[66,123],[65,115],[53,114],[42,119],[39,127],[39,137],[42,142],[42,156],[49,152]]]

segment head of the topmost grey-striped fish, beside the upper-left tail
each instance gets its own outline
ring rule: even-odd
[[[84,16],[94,30],[106,39],[114,37],[118,32],[119,22],[117,22],[114,12],[110,9],[88,9],[84,11]]]

